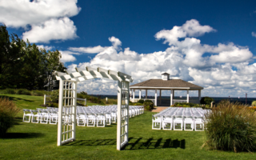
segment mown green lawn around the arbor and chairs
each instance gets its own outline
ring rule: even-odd
[[[19,108],[40,108],[42,97],[5,95]],[[42,108],[42,107],[41,107]],[[0,159],[255,159],[254,154],[201,150],[204,132],[152,130],[151,112],[130,118],[129,145],[116,150],[116,125],[77,126],[76,141],[57,146],[57,126],[17,123],[0,139]]]

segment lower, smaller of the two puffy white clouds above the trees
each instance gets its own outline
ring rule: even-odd
[[[77,38],[76,27],[70,18],[50,19],[42,25],[32,25],[32,29],[23,33],[23,40],[46,42]]]

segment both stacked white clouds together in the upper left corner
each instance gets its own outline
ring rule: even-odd
[[[79,13],[77,0],[2,0],[0,22],[7,27],[27,30],[23,39],[30,42],[77,38],[76,26],[70,17]],[[11,10],[11,11],[10,11]]]

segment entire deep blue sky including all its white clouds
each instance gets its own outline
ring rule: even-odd
[[[255,1],[2,0],[0,12],[10,33],[60,50],[69,70],[101,66],[134,82],[168,72],[203,96],[256,97]],[[116,94],[107,80],[78,89]]]

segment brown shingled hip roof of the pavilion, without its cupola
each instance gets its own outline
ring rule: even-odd
[[[186,88],[197,88],[203,89],[202,86],[194,85],[193,83],[183,81],[182,79],[170,79],[170,80],[162,80],[162,79],[150,79],[144,82],[139,82],[137,84],[131,85],[130,87],[186,87]]]

